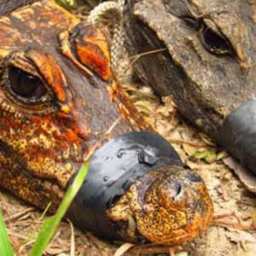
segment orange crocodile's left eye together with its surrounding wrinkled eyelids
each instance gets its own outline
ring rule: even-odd
[[[38,67],[38,65],[30,59],[32,52],[38,51],[32,49],[28,51],[16,50],[3,59],[2,88],[7,97],[7,101],[5,102],[6,106],[9,109],[10,106],[14,105],[16,111],[21,115],[28,113],[35,115],[53,113],[55,112],[55,105],[52,100],[56,96],[55,91],[51,89],[49,80],[44,77],[44,73],[41,73],[40,66]],[[44,53],[39,54],[44,55]],[[38,59],[37,61],[39,61]],[[12,70],[13,68],[14,70]],[[51,71],[52,69],[48,69],[49,73]],[[34,79],[36,83],[34,85],[39,87],[35,88],[33,92],[31,91],[31,95],[26,95],[25,92],[28,92],[28,88],[22,89],[21,87],[26,87],[27,83],[32,85],[29,78],[32,79],[31,83],[33,83]],[[25,94],[22,95],[23,93]]]

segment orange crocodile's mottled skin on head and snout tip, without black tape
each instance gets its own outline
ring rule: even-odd
[[[51,202],[51,212],[96,148],[150,129],[114,82],[103,31],[79,24],[51,0],[0,18],[0,183],[37,207]],[[212,202],[201,179],[184,177],[181,167],[165,170],[137,180],[108,209],[124,240],[178,244],[210,224]],[[172,188],[176,179],[182,193]]]

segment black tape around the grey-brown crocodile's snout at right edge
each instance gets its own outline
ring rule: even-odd
[[[256,100],[241,104],[224,121],[220,143],[256,174]]]

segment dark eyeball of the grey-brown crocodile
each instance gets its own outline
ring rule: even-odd
[[[232,55],[233,50],[229,41],[220,33],[212,31],[211,28],[203,26],[201,29],[201,42],[203,46],[215,55]]]

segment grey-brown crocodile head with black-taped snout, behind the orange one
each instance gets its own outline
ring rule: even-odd
[[[137,73],[256,173],[255,1],[135,2],[125,24],[131,54],[143,53]]]

